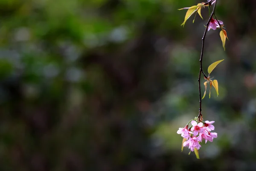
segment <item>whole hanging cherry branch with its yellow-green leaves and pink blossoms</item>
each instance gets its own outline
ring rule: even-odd
[[[206,24],[206,28],[204,31],[204,35],[202,38],[202,49],[201,49],[201,55],[200,55],[200,70],[199,70],[199,76],[198,76],[198,85],[199,85],[199,102],[200,102],[200,107],[199,107],[199,114],[197,117],[195,117],[194,119],[190,120],[186,126],[184,128],[179,128],[179,130],[177,130],[178,134],[181,134],[181,136],[183,137],[183,141],[182,141],[182,146],[181,146],[181,151],[183,151],[183,147],[188,147],[191,151],[195,152],[196,157],[199,159],[199,149],[201,148],[200,142],[202,142],[203,139],[205,139],[205,142],[207,142],[208,140],[210,142],[212,142],[213,138],[217,138],[217,133],[212,133],[211,131],[214,130],[214,126],[212,125],[214,123],[214,121],[203,121],[203,115],[201,113],[202,111],[202,99],[204,99],[205,95],[206,95],[206,90],[207,90],[207,84],[210,85],[210,90],[209,90],[209,98],[211,97],[211,88],[212,86],[215,88],[217,96],[218,96],[218,81],[217,80],[212,80],[210,78],[210,73],[212,72],[212,70],[215,69],[215,67],[224,59],[216,61],[212,64],[209,65],[208,67],[208,76],[205,75],[204,71],[203,71],[203,67],[202,67],[202,63],[203,63],[203,55],[204,55],[204,39],[206,37],[206,33],[208,30],[213,29],[216,30],[217,28],[221,29],[220,32],[220,37],[221,37],[221,41],[222,41],[222,46],[225,50],[225,42],[226,42],[226,38],[227,38],[227,32],[226,30],[224,30],[223,26],[223,22],[221,20],[217,20],[216,16],[215,16],[215,7],[216,7],[216,3],[217,0],[208,0],[207,3],[198,3],[195,6],[190,6],[190,7],[184,7],[182,9],[187,9],[186,15],[185,15],[185,19],[183,21],[183,23],[181,24],[181,26],[184,26],[186,21],[189,19],[189,17],[191,17],[193,14],[199,14],[199,16],[203,19],[202,15],[201,15],[201,10],[205,7],[211,6],[213,3],[213,10],[212,13],[209,13],[209,19],[208,22]],[[212,3],[211,3],[212,2]],[[182,9],[178,9],[178,10],[182,10]],[[215,20],[213,19],[212,16],[215,16]],[[193,20],[193,23],[195,21],[195,18]],[[209,28],[209,29],[208,29]],[[228,40],[228,38],[227,38]],[[204,96],[203,98],[201,97],[201,74],[204,75],[204,79],[206,79],[206,81],[204,82]],[[191,126],[189,127],[189,123],[191,123]],[[189,154],[190,154],[189,152]]]

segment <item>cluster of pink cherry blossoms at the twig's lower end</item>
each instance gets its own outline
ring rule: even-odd
[[[213,138],[217,138],[217,133],[211,132],[214,130],[213,123],[214,121],[198,123],[192,120],[192,126],[190,128],[188,128],[188,124],[185,128],[179,128],[177,134],[181,134],[181,136],[186,139],[186,141],[183,142],[183,147],[188,147],[191,151],[194,151],[195,148],[199,150],[201,147],[199,143],[203,140],[205,140],[205,143],[207,143],[207,141],[212,142]]]

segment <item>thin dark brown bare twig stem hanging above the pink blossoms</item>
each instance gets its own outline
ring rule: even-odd
[[[215,1],[215,4],[213,6],[213,9],[212,9],[212,13],[209,17],[209,20],[207,21],[207,24],[206,24],[206,28],[204,30],[204,35],[203,35],[203,38],[202,38],[202,49],[201,49],[201,55],[200,55],[200,71],[199,71],[199,76],[198,76],[198,85],[199,85],[199,103],[200,103],[200,107],[199,107],[199,114],[198,114],[198,122],[201,122],[202,121],[202,118],[203,118],[203,115],[201,113],[202,111],[202,97],[201,97],[201,81],[200,81],[200,78],[201,78],[201,73],[203,73],[204,77],[207,78],[207,76],[204,74],[204,71],[203,71],[203,68],[202,68],[202,62],[203,62],[203,55],[204,55],[204,39],[205,39],[205,36],[206,36],[206,33],[207,33],[207,29],[208,29],[208,26],[209,26],[209,23],[211,21],[211,18],[212,16],[214,15],[215,13],[215,7],[216,7],[216,4],[217,4],[217,0]]]

